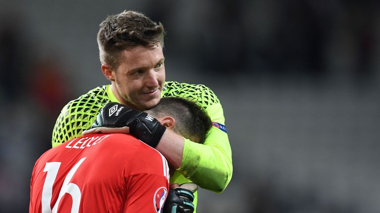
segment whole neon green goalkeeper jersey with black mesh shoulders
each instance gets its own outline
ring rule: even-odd
[[[170,182],[179,184],[194,182],[204,189],[222,192],[232,177],[232,157],[219,99],[204,85],[176,81],[165,82],[162,97],[182,97],[196,102],[206,110],[213,124],[203,144],[185,139],[181,167],[170,178]],[[57,118],[53,129],[52,146],[82,136],[82,131],[94,123],[96,115],[108,102],[119,103],[112,93],[111,85],[96,87],[78,99],[70,101]]]

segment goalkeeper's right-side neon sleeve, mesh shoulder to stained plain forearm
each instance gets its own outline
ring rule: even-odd
[[[223,108],[214,92],[204,85],[167,82],[163,96],[184,97],[206,110],[213,122],[203,144],[185,139],[183,160],[178,169],[200,187],[222,192],[232,178],[232,152],[225,128]]]

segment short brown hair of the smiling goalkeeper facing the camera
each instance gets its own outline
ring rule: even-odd
[[[144,14],[131,10],[108,16],[97,33],[99,57],[102,64],[112,68],[119,66],[119,53],[138,45],[164,46],[165,30]]]

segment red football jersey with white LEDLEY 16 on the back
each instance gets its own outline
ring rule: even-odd
[[[30,213],[161,213],[166,159],[125,134],[94,134],[49,149],[36,162]]]

